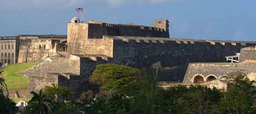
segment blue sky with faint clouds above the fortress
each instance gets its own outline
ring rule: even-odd
[[[256,0],[0,0],[0,36],[67,34],[67,22],[134,23],[170,21],[171,38],[256,41]]]

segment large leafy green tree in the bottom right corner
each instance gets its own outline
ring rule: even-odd
[[[220,113],[229,111],[236,114],[255,113],[256,97],[254,94],[256,91],[253,82],[243,75],[234,77],[234,88],[224,94],[224,98],[220,99],[220,104],[216,109],[219,109]]]

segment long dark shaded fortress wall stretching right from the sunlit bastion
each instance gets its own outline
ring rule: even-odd
[[[160,62],[160,81],[182,81],[188,63],[225,62],[225,56],[235,55],[241,48],[240,43],[233,45],[230,42],[224,45],[215,42],[213,45],[208,41],[166,38],[163,39],[163,43],[153,38],[148,40],[139,39],[140,37],[132,38],[128,37],[126,40],[114,38],[113,63],[150,69],[153,64]]]

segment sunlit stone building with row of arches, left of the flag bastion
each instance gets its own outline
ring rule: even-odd
[[[53,56],[56,44],[67,42],[67,35],[19,35],[0,37],[0,67],[12,63],[39,62]],[[59,47],[61,48],[61,47]],[[65,49],[58,50],[64,51]]]

